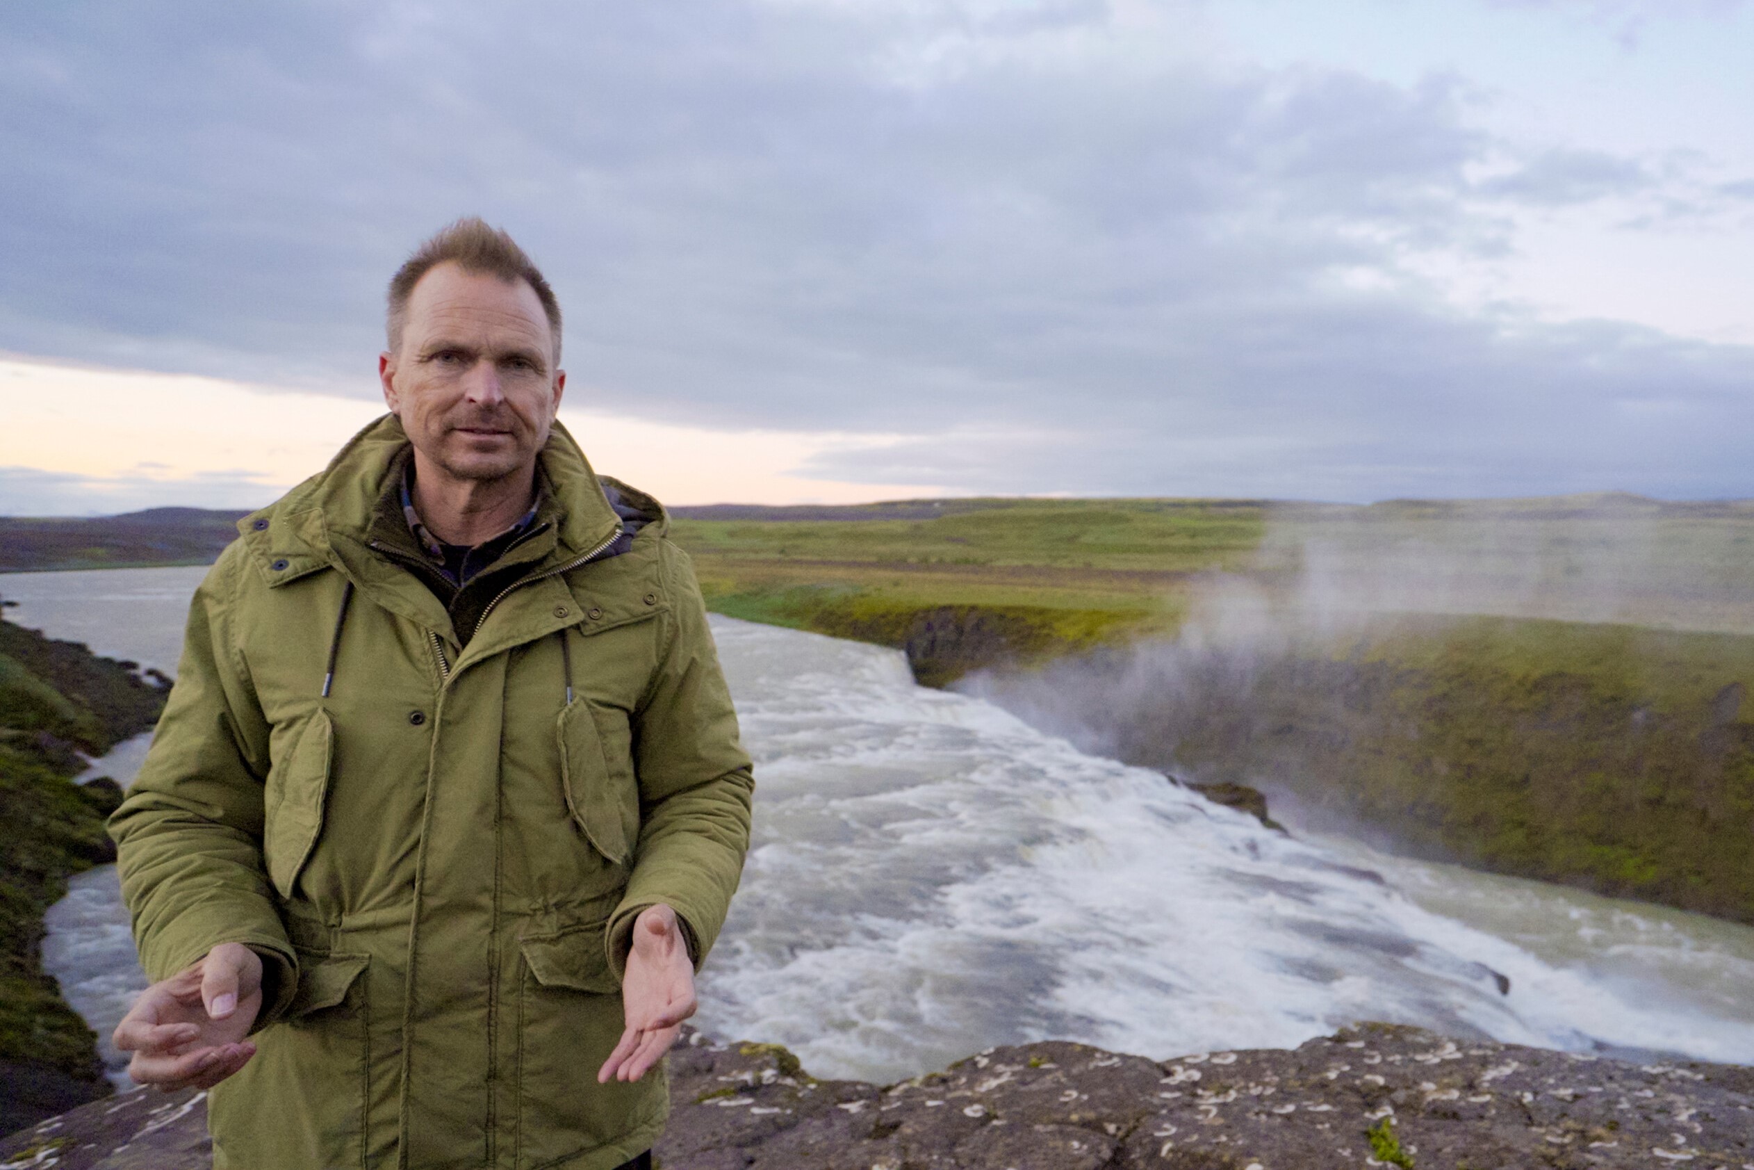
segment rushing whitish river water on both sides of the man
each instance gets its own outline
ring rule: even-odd
[[[198,568],[0,577],[23,624],[174,668]],[[881,647],[714,619],[756,756],[702,1024],[895,1079],[1058,1037],[1172,1056],[1391,1019],[1754,1063],[1754,930],[1286,838]],[[132,779],[140,744],[103,770]],[[132,761],[132,763],[130,763]],[[140,986],[112,870],[46,961],[100,1033]],[[1494,972],[1510,979],[1501,995]]]

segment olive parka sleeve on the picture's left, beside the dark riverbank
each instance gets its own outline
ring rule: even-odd
[[[286,1009],[296,958],[261,858],[268,726],[228,628],[244,572],[232,546],[196,589],[177,682],[109,828],[147,979],[242,942],[263,956],[260,1028]]]

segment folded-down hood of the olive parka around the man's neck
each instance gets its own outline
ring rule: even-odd
[[[363,547],[384,475],[407,442],[395,414],[368,423],[326,468],[239,521],[253,558],[263,568],[277,567],[274,581],[286,582],[335,563],[342,556],[337,544]],[[668,531],[663,505],[621,481],[598,477],[558,419],[537,461],[561,502],[554,558],[579,558],[605,540],[621,546],[610,551],[624,551],[644,528],[654,528],[654,535]]]

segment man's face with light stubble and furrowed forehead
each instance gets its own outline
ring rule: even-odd
[[[414,286],[402,346],[379,358],[377,372],[421,465],[474,481],[535,463],[567,386],[535,289],[456,263]]]

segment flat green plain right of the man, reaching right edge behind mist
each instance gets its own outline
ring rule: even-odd
[[[703,509],[709,510],[710,509]],[[1172,637],[1223,574],[1280,605],[1754,633],[1754,505],[942,500],[679,510],[707,603],[907,647],[923,681]],[[786,509],[772,512],[786,514]],[[970,640],[968,626],[986,619]],[[942,635],[951,631],[949,642]],[[945,646],[966,651],[945,658]]]

